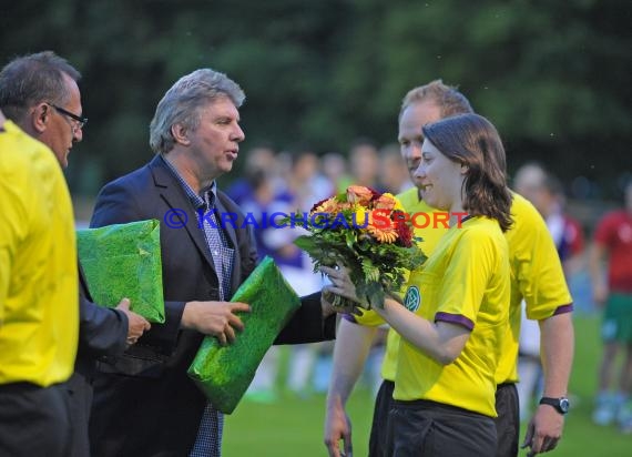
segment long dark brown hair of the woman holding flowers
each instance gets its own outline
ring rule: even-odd
[[[503,232],[509,230],[512,220],[507,161],[491,122],[478,114],[460,114],[427,124],[422,131],[441,154],[468,166],[463,210],[473,216],[493,217]]]

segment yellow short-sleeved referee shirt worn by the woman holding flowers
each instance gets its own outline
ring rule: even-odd
[[[470,329],[457,359],[441,365],[400,339],[398,400],[428,399],[496,417],[496,379],[508,327],[507,240],[497,221],[473,217],[452,226],[424,268],[410,273],[405,306],[430,321]]]

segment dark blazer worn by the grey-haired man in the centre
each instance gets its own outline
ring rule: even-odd
[[[216,207],[238,214],[236,230],[226,224],[235,248],[232,296],[257,263],[256,246],[252,226],[242,224],[242,212],[221,191]],[[203,335],[180,324],[186,302],[220,298],[218,282],[195,210],[160,155],[101,190],[91,226],[149,219],[161,224],[166,319],[128,349],[114,373],[98,375],[90,423],[93,456],[187,456],[206,404],[186,375]],[[335,316],[323,319],[319,294],[302,302],[275,344],[334,337]]]

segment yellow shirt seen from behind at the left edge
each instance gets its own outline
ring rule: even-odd
[[[0,385],[70,377],[79,335],[72,203],[53,153],[0,131]]]

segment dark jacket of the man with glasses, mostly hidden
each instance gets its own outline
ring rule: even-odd
[[[92,383],[96,360],[123,355],[128,337],[128,316],[92,303],[81,263],[79,268],[79,346],[74,373],[65,383],[70,396],[72,457],[89,457],[88,422],[92,406]]]

